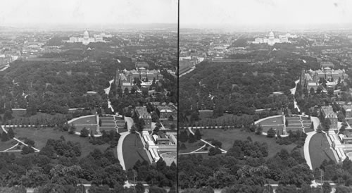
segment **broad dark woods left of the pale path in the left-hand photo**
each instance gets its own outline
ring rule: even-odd
[[[15,61],[0,80],[4,88],[0,112],[27,108],[27,114],[33,115],[39,110],[68,113],[68,108],[95,108],[111,78],[103,75],[99,63]]]

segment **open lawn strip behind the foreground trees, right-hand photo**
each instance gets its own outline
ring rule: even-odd
[[[222,149],[228,150],[232,147],[234,140],[246,140],[247,137],[251,137],[253,142],[266,142],[268,144],[269,156],[268,158],[274,156],[281,149],[287,149],[291,152],[296,144],[289,145],[279,145],[275,142],[275,138],[268,138],[264,135],[256,135],[253,132],[244,132],[241,130],[221,130],[221,129],[202,129],[201,130],[202,139],[213,138],[222,142]]]

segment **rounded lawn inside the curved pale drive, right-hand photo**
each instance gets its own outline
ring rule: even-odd
[[[316,133],[310,139],[309,154],[310,160],[312,161],[313,170],[318,168],[325,159],[327,161],[335,161],[334,153],[332,152],[332,149],[330,149],[329,142],[327,142],[327,137],[322,133]]]

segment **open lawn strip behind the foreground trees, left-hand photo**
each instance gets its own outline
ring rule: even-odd
[[[100,149],[101,151],[105,151],[109,144],[102,145],[94,145],[89,143],[88,137],[80,137],[79,135],[70,135],[68,132],[61,132],[59,130],[54,130],[52,127],[44,127],[44,128],[34,128],[34,127],[18,127],[13,130],[15,132],[15,137],[27,137],[29,139],[34,140],[35,147],[37,149],[42,149],[45,146],[46,141],[48,139],[60,139],[61,136],[65,137],[66,141],[72,142],[80,142],[82,155],[81,157],[87,156],[89,152],[94,149]]]

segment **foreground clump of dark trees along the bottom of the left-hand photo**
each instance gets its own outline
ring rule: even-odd
[[[127,175],[113,151],[94,149],[79,159],[79,143],[65,141],[64,137],[48,139],[39,154],[1,154],[0,174],[4,178],[0,183],[7,187],[34,187],[39,192],[75,191],[82,182],[123,189]]]

